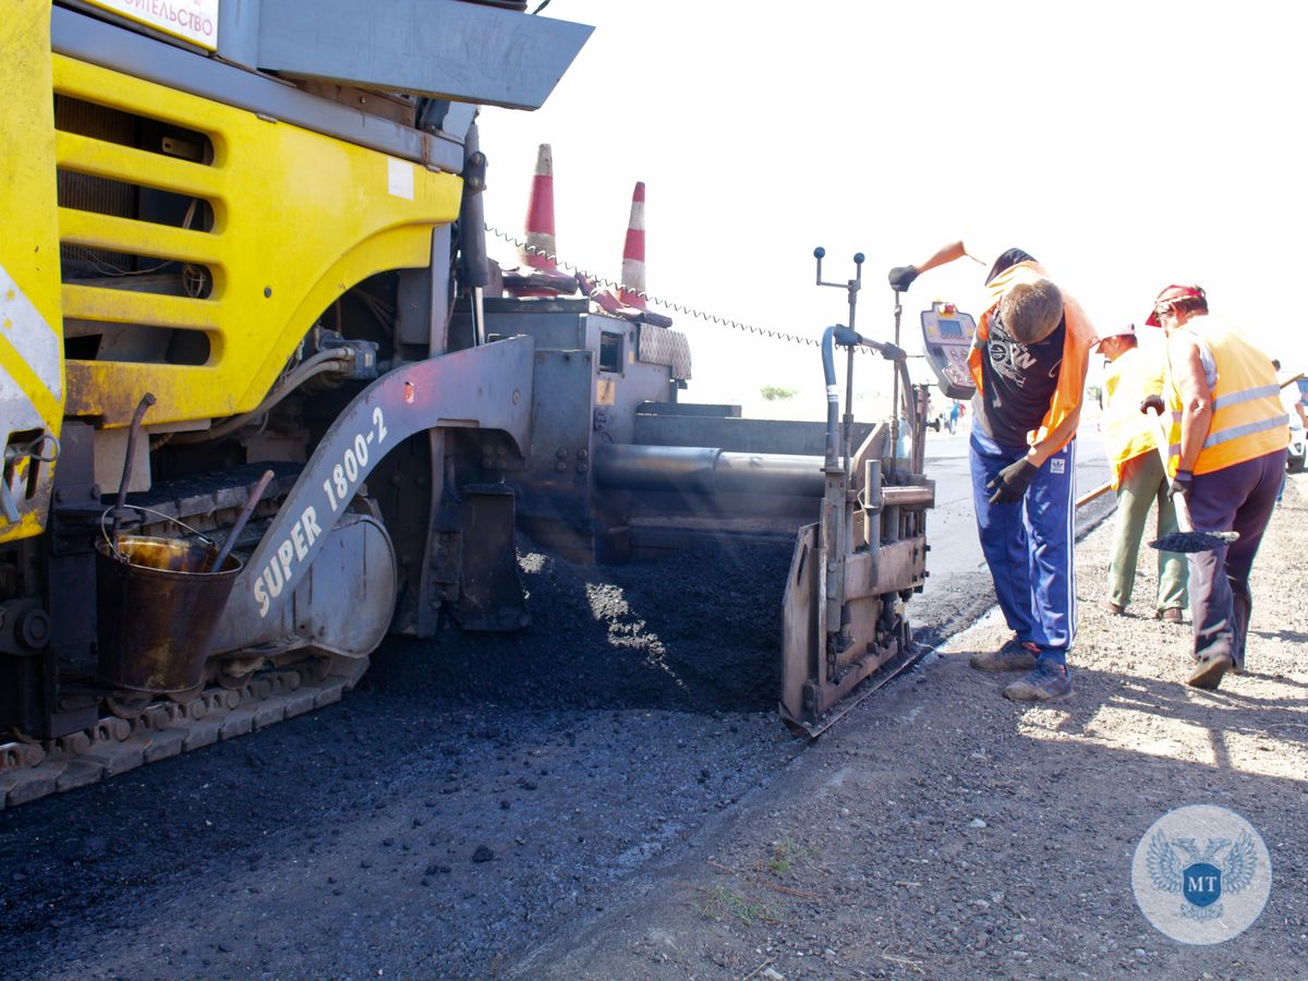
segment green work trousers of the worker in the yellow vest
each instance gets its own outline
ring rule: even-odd
[[[1158,504],[1158,536],[1177,531],[1176,508],[1167,497],[1167,475],[1156,453],[1143,453],[1126,460],[1122,481],[1117,488],[1117,531],[1108,560],[1108,599],[1122,610],[1131,602],[1135,585],[1135,562],[1141,553],[1144,519]],[[1185,556],[1176,552],[1158,553],[1156,610],[1185,607]]]

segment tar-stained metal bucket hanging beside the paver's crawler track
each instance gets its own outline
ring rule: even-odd
[[[99,678],[114,688],[184,692],[204,680],[204,658],[241,572],[212,544],[146,535],[95,543]]]

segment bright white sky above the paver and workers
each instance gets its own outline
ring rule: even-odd
[[[1308,369],[1301,9],[552,0],[542,16],[595,33],[543,109],[483,112],[487,221],[522,235],[549,143],[562,258],[619,279],[644,181],[649,292],[760,328],[816,337],[848,320],[845,292],[814,284],[820,245],[825,280],[867,256],[857,326],[889,339],[887,269],[984,238],[1036,255],[1100,330],[1142,324],[1162,286],[1197,281],[1214,313]],[[515,264],[509,243],[489,250]],[[984,272],[964,260],[918,280],[905,347],[920,349],[933,298],[976,313]],[[823,412],[815,348],[676,327],[695,353],[688,400],[751,411],[780,385],[803,392],[780,415]]]

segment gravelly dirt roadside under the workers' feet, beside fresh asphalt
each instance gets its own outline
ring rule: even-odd
[[[1076,552],[1075,695],[1003,700],[967,657],[991,615],[850,713],[675,866],[506,968],[551,978],[1305,977],[1308,475],[1254,564],[1248,666],[1182,684],[1189,624],[1101,596],[1112,522]],[[1135,845],[1164,812],[1236,811],[1262,835],[1261,918],[1185,946],[1137,908]]]

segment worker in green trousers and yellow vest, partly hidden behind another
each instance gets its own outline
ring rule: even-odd
[[[1117,528],[1108,557],[1108,593],[1100,606],[1113,616],[1126,612],[1135,585],[1135,564],[1150,508],[1158,504],[1158,536],[1177,531],[1176,506],[1168,497],[1168,475],[1158,453],[1158,429],[1141,415],[1141,403],[1163,391],[1167,362],[1156,349],[1141,351],[1135,326],[1099,339],[1108,358],[1104,375],[1104,449],[1117,490]],[[1154,616],[1181,623],[1185,608],[1185,556],[1158,553],[1158,596]]]

